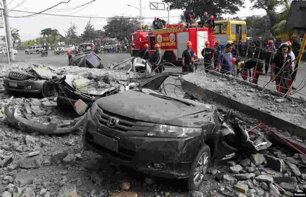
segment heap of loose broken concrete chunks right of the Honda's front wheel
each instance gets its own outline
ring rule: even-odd
[[[292,192],[305,192],[306,165],[300,164],[304,163],[304,159],[303,154],[272,147],[260,153],[244,155],[237,161],[227,162],[228,169],[222,172],[211,169],[216,180],[225,184],[211,193],[268,197],[293,196]]]

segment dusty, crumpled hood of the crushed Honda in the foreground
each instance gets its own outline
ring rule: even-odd
[[[100,98],[96,103],[105,111],[138,121],[182,127],[201,127],[214,122],[215,106],[187,105],[137,91]]]

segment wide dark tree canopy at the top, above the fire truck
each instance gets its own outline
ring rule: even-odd
[[[196,17],[201,16],[203,12],[212,14],[215,17],[219,17],[222,14],[236,14],[241,7],[244,7],[244,0],[163,0],[163,2],[170,3],[170,10],[192,9]]]

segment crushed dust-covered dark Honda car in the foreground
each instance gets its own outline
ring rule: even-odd
[[[237,151],[271,146],[222,117],[213,105],[134,89],[98,99],[85,114],[84,148],[119,165],[168,178],[188,179],[198,188],[210,163]]]

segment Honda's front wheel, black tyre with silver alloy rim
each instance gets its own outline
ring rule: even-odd
[[[210,159],[210,148],[204,144],[192,163],[192,170],[188,178],[188,189],[190,191],[199,189],[209,168]]]

